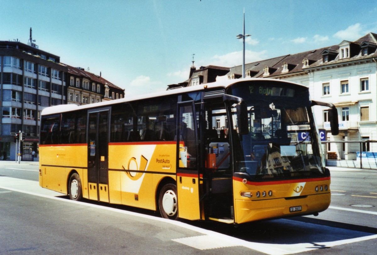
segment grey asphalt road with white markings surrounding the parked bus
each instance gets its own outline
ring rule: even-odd
[[[37,163],[0,162],[0,254],[375,254],[377,170],[330,170],[332,202],[319,216],[234,228],[73,202],[39,187]]]

